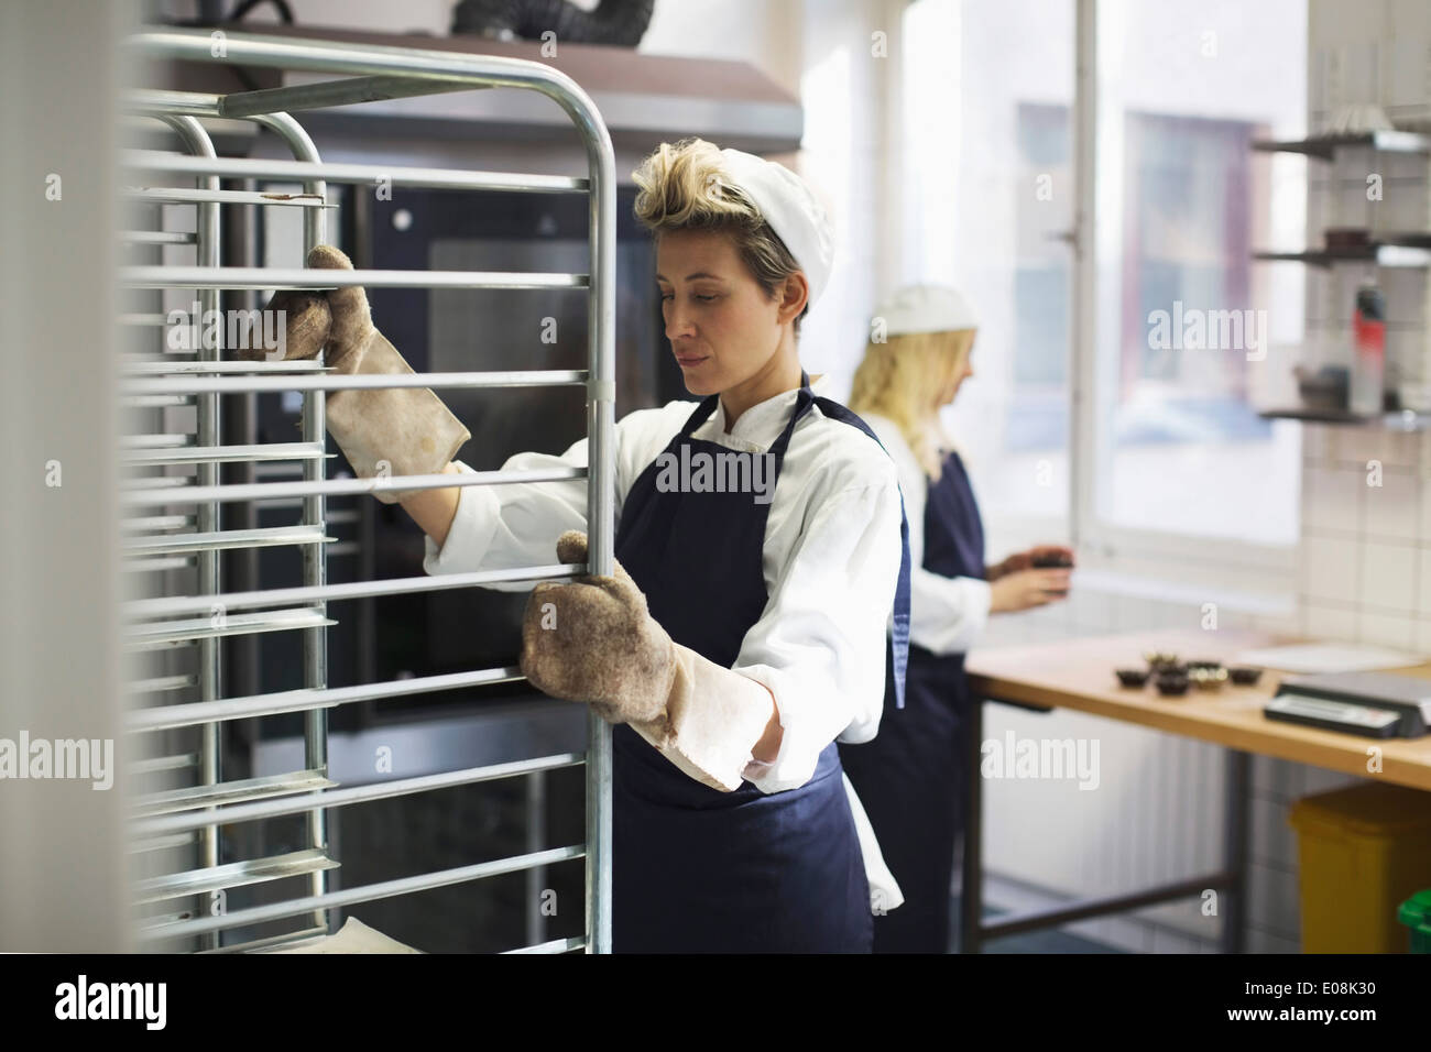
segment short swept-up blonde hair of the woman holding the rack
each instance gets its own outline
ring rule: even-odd
[[[801,269],[756,203],[721,167],[720,147],[714,143],[695,137],[661,143],[631,177],[641,187],[635,198],[637,222],[657,239],[670,230],[728,235],[767,299],[774,299],[780,283]],[[796,318],[796,336],[807,313],[809,301]]]

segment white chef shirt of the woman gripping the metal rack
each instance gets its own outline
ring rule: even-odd
[[[811,391],[829,396],[829,386],[826,375]],[[784,431],[796,395],[786,391],[750,406],[730,434],[724,406],[717,402],[691,437],[728,449],[766,452]],[[694,402],[675,401],[617,422],[617,521],[637,477],[694,409]],[[471,471],[461,461],[456,467]],[[587,467],[587,439],[561,457],[517,454],[502,469],[550,467]],[[428,537],[422,565],[429,574],[547,565],[557,560],[562,531],[585,528],[584,478],[464,487],[441,551]],[[768,505],[766,608],[746,633],[733,666],[770,690],[784,730],[776,759],[746,770],[761,792],[803,786],[814,774],[820,751],[834,740],[874,737],[884,706],[886,625],[899,564],[894,464],[869,435],[811,406],[790,437]],[[527,591],[532,584],[491,587]]]

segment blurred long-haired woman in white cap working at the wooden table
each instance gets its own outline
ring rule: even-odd
[[[992,613],[1027,610],[1068,593],[1063,545],[1039,545],[985,564],[983,524],[964,461],[939,411],[973,374],[977,321],[954,289],[900,289],[876,312],[884,341],[871,341],[854,374],[850,408],[899,465],[909,514],[913,580],[904,704],[887,700],[880,733],[841,744],[840,756],[899,880],[904,903],[876,917],[874,950],[943,953],[954,842],[963,827],[973,704],[964,651]]]

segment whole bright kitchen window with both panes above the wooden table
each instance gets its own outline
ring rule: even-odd
[[[1256,405],[1291,369],[1305,278],[1251,253],[1301,242],[1305,159],[1251,142],[1305,132],[1305,0],[917,0],[904,42],[904,219],[923,229],[902,278],[979,306],[946,424],[990,537],[1286,584],[1299,429]],[[1082,125],[1076,66],[1096,84]],[[934,127],[953,143],[922,145]]]

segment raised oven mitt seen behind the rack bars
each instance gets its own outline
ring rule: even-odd
[[[352,271],[352,260],[332,245],[318,245],[308,265]],[[361,288],[321,293],[332,322],[323,364],[342,375],[412,374],[398,349],[372,323],[368,296]],[[285,361],[312,358],[323,345],[315,339],[322,311],[311,292],[278,292],[268,309],[288,309],[289,338]],[[295,312],[296,311],[296,318]],[[262,356],[262,354],[260,354]],[[431,388],[372,388],[332,391],[325,399],[328,431],[359,478],[436,475],[472,434],[452,415]],[[396,504],[404,490],[373,490],[384,504]]]

